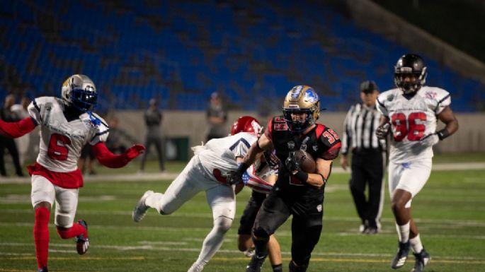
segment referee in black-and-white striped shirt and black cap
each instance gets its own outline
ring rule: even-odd
[[[384,170],[386,142],[375,135],[381,117],[376,108],[379,90],[374,81],[360,83],[360,99],[350,107],[343,122],[341,166],[347,169],[348,153],[352,152],[352,174],[349,187],[361,220],[359,231],[376,234],[384,203]],[[367,198],[365,187],[368,187]]]

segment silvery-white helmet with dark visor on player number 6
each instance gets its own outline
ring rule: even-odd
[[[72,75],[62,83],[61,97],[68,107],[73,106],[81,112],[93,110],[98,101],[96,86],[91,78],[84,75]]]

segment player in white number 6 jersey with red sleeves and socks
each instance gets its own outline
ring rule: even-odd
[[[18,138],[40,126],[40,148],[37,161],[28,166],[32,176],[30,198],[35,210],[34,242],[38,271],[47,272],[50,210],[55,202],[55,226],[62,239],[74,238],[76,250],[85,254],[89,247],[87,224],[74,223],[79,188],[83,186],[77,160],[86,143],[91,144],[96,158],[107,167],[123,167],[144,151],[135,145],[121,155],[105,146],[109,127],[91,112],[98,93],[88,76],[69,76],[62,84],[61,98],[37,97],[28,106],[29,117],[19,122],[0,121],[0,133]]]

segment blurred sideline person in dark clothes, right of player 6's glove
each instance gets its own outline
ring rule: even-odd
[[[160,172],[165,171],[164,154],[161,149],[161,121],[163,116],[158,109],[155,98],[150,99],[148,110],[144,113],[145,125],[147,126],[147,136],[145,138],[145,147],[147,152],[143,154],[142,163],[139,165],[139,172],[144,172],[145,162],[147,161],[150,146],[154,145],[156,149],[156,156],[159,158]]]

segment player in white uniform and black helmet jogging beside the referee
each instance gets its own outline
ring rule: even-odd
[[[392,133],[389,153],[389,193],[396,220],[399,247],[391,267],[401,268],[409,249],[416,258],[413,272],[421,272],[430,260],[411,217],[411,200],[424,187],[431,172],[433,145],[458,129],[450,93],[425,86],[427,69],[421,57],[405,54],[394,68],[396,87],[377,97],[382,112],[377,136]],[[438,119],[445,128],[436,131]]]

